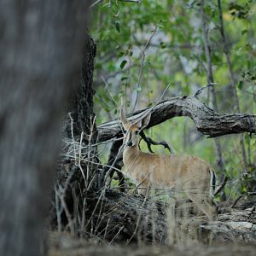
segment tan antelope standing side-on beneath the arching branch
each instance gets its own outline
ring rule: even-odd
[[[217,207],[212,200],[212,186],[215,173],[207,161],[191,155],[153,154],[139,148],[139,133],[147,127],[151,113],[135,123],[129,122],[125,111],[120,109],[119,117],[125,129],[123,161],[127,176],[133,178],[146,195],[148,188],[181,189],[195,205],[207,215],[217,218]]]

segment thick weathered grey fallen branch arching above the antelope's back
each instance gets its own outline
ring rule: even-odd
[[[127,119],[136,122],[149,108],[127,115]],[[208,137],[219,137],[241,132],[256,133],[256,115],[242,113],[217,113],[193,96],[172,97],[159,102],[151,110],[151,119],[146,129],[159,125],[167,119],[187,116],[192,119],[198,131]],[[119,119],[98,125],[98,142],[117,137],[121,132]]]

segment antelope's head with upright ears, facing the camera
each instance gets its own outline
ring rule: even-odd
[[[125,129],[125,140],[124,144],[125,147],[134,147],[138,146],[139,139],[138,135],[140,131],[143,131],[143,129],[148,125],[150,121],[151,113],[148,113],[143,119],[138,120],[137,122],[129,122],[125,117],[125,111],[123,108],[120,110],[120,119],[121,123]]]

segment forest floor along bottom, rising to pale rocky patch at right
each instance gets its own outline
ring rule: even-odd
[[[85,241],[67,233],[49,233],[49,256],[158,256],[158,255],[256,255],[256,211],[254,202],[243,203],[236,209],[226,208],[218,221],[207,223],[189,218],[189,229],[201,230],[196,239],[179,239],[172,246],[143,243],[110,244],[97,238]],[[188,227],[186,225],[186,227]],[[209,239],[209,237],[211,237]]]

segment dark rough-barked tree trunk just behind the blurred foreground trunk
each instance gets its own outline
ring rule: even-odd
[[[97,139],[92,89],[96,44],[88,35],[84,39],[86,50],[81,82],[67,109],[65,139],[55,182],[55,207],[51,215],[51,224],[57,225],[59,231],[68,228],[73,234],[82,236],[87,195],[102,189],[103,185],[96,147],[93,146]]]

